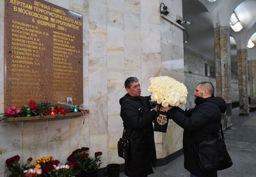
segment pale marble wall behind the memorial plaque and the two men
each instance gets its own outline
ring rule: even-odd
[[[0,0],[0,34],[4,36],[4,1]],[[0,176],[7,177],[5,159],[19,154],[23,163],[52,155],[66,162],[76,148],[103,152],[101,167],[124,163],[116,143],[123,126],[119,99],[124,80],[138,77],[142,95],[148,95],[148,79],[167,75],[184,82],[182,30],[160,17],[160,0],[47,0],[83,15],[82,116],[24,122],[0,122]],[[182,16],[180,0],[164,0],[168,18]],[[4,103],[4,38],[0,38],[0,112]],[[183,129],[170,120],[168,133],[155,133],[157,157],[182,148]],[[33,161],[34,162],[34,161]]]

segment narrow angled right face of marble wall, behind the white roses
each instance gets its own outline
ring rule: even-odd
[[[176,20],[182,16],[181,0],[163,0],[165,6],[170,7],[168,18]],[[161,3],[160,2],[160,3]],[[184,83],[184,52],[183,31],[166,19],[160,19],[160,46],[161,46],[161,72],[162,76],[170,76]],[[159,74],[159,73],[156,73]],[[184,108],[184,105],[180,106]],[[183,129],[173,120],[169,120],[167,133],[155,133],[157,158],[163,158],[182,148]]]

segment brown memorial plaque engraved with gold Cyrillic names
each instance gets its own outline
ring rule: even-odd
[[[82,15],[43,0],[5,1],[5,108],[83,103]]]

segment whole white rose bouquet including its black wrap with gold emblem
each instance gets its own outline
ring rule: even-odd
[[[166,112],[160,110],[160,107],[185,104],[188,90],[183,83],[169,76],[151,77],[149,83],[148,92],[152,94],[151,100],[158,104],[154,130],[166,133],[168,117]]]

